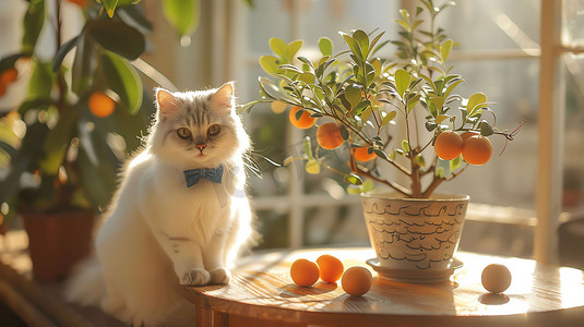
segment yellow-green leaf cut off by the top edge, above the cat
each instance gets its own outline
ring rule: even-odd
[[[163,11],[179,36],[193,34],[199,25],[201,11],[199,0],[164,0]]]

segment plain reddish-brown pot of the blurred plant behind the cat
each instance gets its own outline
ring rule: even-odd
[[[88,255],[95,214],[26,213],[22,217],[35,280],[64,279],[73,265]]]

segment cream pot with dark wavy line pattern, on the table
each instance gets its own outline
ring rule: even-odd
[[[365,220],[379,265],[401,270],[449,269],[468,199],[457,194],[436,194],[429,199],[363,195]]]

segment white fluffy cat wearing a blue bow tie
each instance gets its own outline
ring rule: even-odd
[[[78,269],[65,295],[134,326],[192,326],[180,284],[228,283],[252,234],[243,191],[250,141],[233,83],[156,89],[156,105],[145,149],[124,168],[97,232],[97,261]]]

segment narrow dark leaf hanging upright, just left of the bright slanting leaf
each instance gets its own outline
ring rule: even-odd
[[[92,38],[82,35],[79,39],[75,59],[73,60],[73,70],[71,74],[71,89],[82,96],[90,86],[95,65],[95,46]]]

